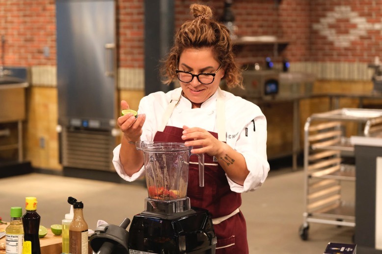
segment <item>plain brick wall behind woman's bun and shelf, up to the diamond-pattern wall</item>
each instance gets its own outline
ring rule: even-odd
[[[189,6],[195,1],[176,1],[176,27],[190,19]],[[199,1],[213,8],[216,18],[223,15],[223,0]],[[276,4],[274,0],[234,0],[232,11],[238,36],[273,35],[286,38],[291,43],[285,51],[279,50],[274,55],[272,45],[247,45],[235,48],[240,63],[263,63],[266,56],[281,62],[288,57],[291,61],[303,61],[309,57],[309,1],[283,0]]]

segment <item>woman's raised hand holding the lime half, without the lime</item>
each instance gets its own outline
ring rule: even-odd
[[[121,109],[130,109],[129,104],[124,100],[121,101]],[[145,114],[139,114],[135,117],[132,113],[129,113],[118,117],[117,124],[123,132],[125,139],[127,139],[127,141],[135,142],[140,140],[145,119]]]

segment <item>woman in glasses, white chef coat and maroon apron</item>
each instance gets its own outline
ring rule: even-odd
[[[118,174],[134,181],[143,174],[143,156],[135,141],[185,142],[205,154],[205,186],[198,185],[198,167],[190,164],[187,196],[192,207],[211,212],[217,234],[217,252],[248,253],[242,192],[260,187],[269,171],[266,155],[266,118],[259,107],[222,91],[242,86],[234,62],[228,29],[211,20],[206,5],[191,4],[194,20],[184,23],[164,62],[164,82],[179,80],[180,88],[154,92],[142,98],[138,117],[118,118],[124,134],[114,149]],[[128,109],[125,101],[122,109]]]

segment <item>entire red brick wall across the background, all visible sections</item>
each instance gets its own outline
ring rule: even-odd
[[[175,1],[175,25],[190,19],[193,0]],[[208,3],[216,17],[223,0]],[[234,0],[238,35],[276,35],[289,41],[274,61],[371,62],[382,50],[382,4],[376,0]],[[143,68],[143,0],[117,0],[118,63]],[[55,1],[0,0],[5,65],[55,66]],[[0,49],[1,50],[1,49]],[[242,63],[273,56],[273,46],[245,46]]]

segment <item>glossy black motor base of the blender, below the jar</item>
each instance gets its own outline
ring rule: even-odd
[[[128,247],[136,254],[215,254],[216,243],[208,210],[191,208],[173,214],[137,214],[130,226]]]

